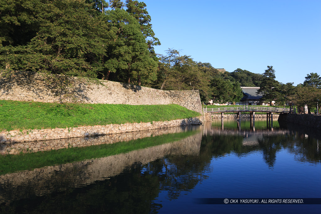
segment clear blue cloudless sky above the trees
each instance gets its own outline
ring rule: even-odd
[[[264,73],[296,86],[321,75],[321,0],[140,0],[160,39],[156,53],[182,50],[232,72]]]

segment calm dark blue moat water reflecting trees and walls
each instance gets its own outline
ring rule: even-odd
[[[132,134],[126,139],[138,138],[139,133]],[[316,130],[277,121],[225,119],[223,124],[217,120],[140,135],[150,137],[1,155],[0,213],[319,213],[321,209],[321,205],[195,203],[195,198],[321,198],[321,138]],[[91,145],[107,142],[106,136],[79,140]]]

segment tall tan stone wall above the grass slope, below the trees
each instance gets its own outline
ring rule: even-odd
[[[202,114],[198,90],[165,91],[113,81],[102,84],[73,79],[73,87],[48,84],[40,75],[0,80],[0,99],[38,102],[81,102],[129,105],[178,104]]]

